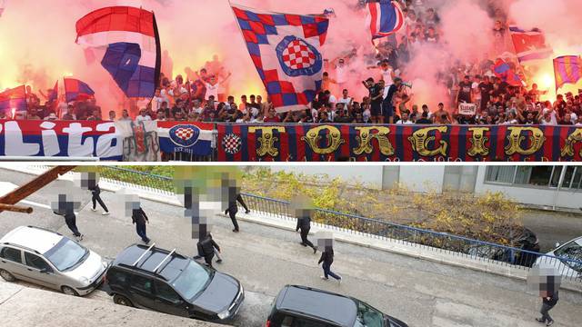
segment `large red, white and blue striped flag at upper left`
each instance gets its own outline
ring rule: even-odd
[[[105,7],[76,22],[76,43],[105,52],[101,64],[127,97],[153,97],[161,67],[156,16],[141,8]]]

